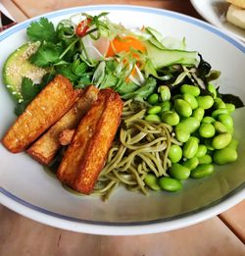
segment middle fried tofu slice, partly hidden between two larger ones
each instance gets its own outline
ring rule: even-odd
[[[37,141],[35,141],[27,153],[44,165],[49,165],[54,156],[61,148],[59,141],[60,134],[65,129],[76,128],[81,118],[91,108],[92,103],[97,99],[99,89],[95,86],[88,86],[73,107],[51,128],[47,130]]]

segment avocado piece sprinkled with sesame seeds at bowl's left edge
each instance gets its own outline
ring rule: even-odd
[[[39,45],[39,42],[25,43],[15,50],[4,64],[3,82],[14,100],[17,102],[23,101],[23,77],[29,77],[34,82],[39,82],[47,73],[46,70],[28,62],[28,58],[36,52]]]

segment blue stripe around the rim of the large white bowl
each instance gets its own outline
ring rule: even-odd
[[[194,26],[200,26],[200,27],[205,28],[206,30],[209,30],[209,31],[215,33],[216,35],[220,36],[225,41],[227,41],[230,44],[232,44],[233,46],[235,46],[235,48],[237,48],[241,52],[245,53],[245,45],[243,45],[243,43],[241,43],[237,39],[234,39],[234,38],[230,37],[225,32],[222,32],[221,30],[219,30],[219,28],[217,28],[215,26],[212,26],[212,25],[209,25],[209,24],[207,24],[203,21],[197,20],[195,18],[186,16],[186,15],[183,15],[183,14],[168,11],[168,10],[161,10],[161,9],[148,8],[148,7],[139,7],[139,6],[128,6],[128,5],[97,5],[97,6],[74,7],[74,8],[64,9],[64,10],[48,13],[48,14],[45,14],[45,15],[41,15],[41,16],[29,19],[29,20],[27,20],[27,21],[25,21],[21,24],[18,24],[16,26],[12,26],[11,28],[3,31],[2,33],[0,33],[0,42],[3,41],[5,38],[11,36],[13,33],[18,32],[18,31],[24,29],[25,27],[29,26],[29,24],[31,22],[39,20],[40,17],[46,17],[48,19],[53,19],[53,18],[65,16],[65,15],[72,15],[74,13],[79,13],[79,12],[105,11],[105,10],[108,11],[108,12],[111,12],[111,11],[128,11],[128,12],[139,12],[139,13],[160,15],[160,16],[164,16],[164,17],[170,17],[170,18],[173,18],[175,20],[180,20],[182,22],[189,23],[189,24],[194,25]],[[152,225],[152,224],[166,223],[166,222],[169,222],[169,221],[174,221],[174,220],[186,218],[190,215],[200,213],[204,210],[207,210],[207,209],[212,208],[212,207],[214,207],[218,204],[221,204],[221,203],[225,202],[227,199],[230,199],[230,198],[234,197],[236,194],[243,194],[244,193],[243,192],[244,187],[245,187],[245,185],[243,183],[243,184],[239,185],[237,188],[230,191],[228,194],[226,194],[220,200],[212,202],[211,204],[209,204],[205,207],[199,208],[198,210],[193,210],[193,211],[190,211],[190,212],[187,212],[187,213],[183,213],[183,214],[178,215],[176,217],[170,217],[170,218],[158,219],[158,220],[151,220],[151,221],[143,221],[143,222],[128,222],[128,223],[100,222],[100,221],[89,221],[89,220],[73,218],[73,217],[70,217],[70,216],[65,216],[65,215],[62,215],[62,214],[51,212],[51,211],[48,211],[44,208],[41,208],[41,207],[38,207],[38,206],[33,205],[31,203],[28,203],[25,200],[23,200],[22,198],[19,198],[18,196],[12,194],[10,191],[4,189],[3,187],[0,187],[0,193],[2,193],[7,198],[13,200],[17,204],[20,204],[20,205],[22,205],[22,206],[24,206],[24,207],[26,207],[30,210],[33,210],[34,212],[38,212],[39,214],[48,215],[50,217],[62,219],[62,220],[65,220],[65,221],[75,222],[75,223],[79,223],[79,224],[89,224],[89,225],[93,225],[93,226],[100,226],[101,225],[101,226],[132,227],[132,226],[147,226],[147,225]],[[243,197],[243,195],[239,197],[239,200],[236,200],[236,203],[238,201],[241,201],[242,197]],[[8,205],[5,204],[5,205],[10,207],[9,204]],[[227,206],[224,207],[223,210],[225,210],[226,208],[228,208],[228,207]],[[13,209],[13,210],[15,210],[15,209]],[[220,211],[216,210],[216,212],[214,212],[213,215],[210,215],[207,218],[210,218],[210,217],[212,217],[216,214],[219,214],[219,213],[220,213]],[[30,216],[28,216],[28,217],[31,218]],[[204,218],[201,218],[201,219],[205,220],[207,218],[204,217]],[[31,219],[34,219],[36,221],[40,221],[37,218],[31,218]],[[45,223],[44,221],[42,221],[42,222]],[[194,221],[192,223],[194,223]],[[52,224],[50,224],[50,225],[52,225]],[[53,226],[55,226],[55,225],[53,225]],[[104,231],[104,232],[103,231],[102,232],[98,231],[97,233],[105,233],[106,234],[107,231]],[[142,231],[142,233],[143,233],[143,231]]]

